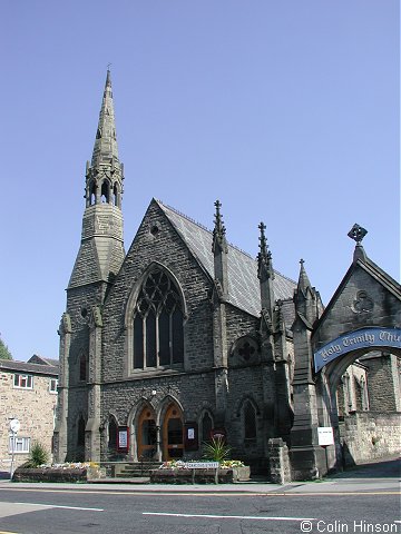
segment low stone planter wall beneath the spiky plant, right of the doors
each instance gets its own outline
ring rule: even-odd
[[[233,484],[250,479],[251,469],[248,466],[234,467],[231,469],[218,469],[218,484]],[[153,484],[215,484],[215,469],[153,469],[150,471],[150,483]]]

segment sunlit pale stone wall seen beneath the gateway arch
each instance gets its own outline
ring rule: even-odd
[[[400,453],[401,413],[355,412],[340,423],[345,466]]]

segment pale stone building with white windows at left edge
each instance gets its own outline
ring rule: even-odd
[[[0,473],[10,473],[29,457],[35,442],[42,444],[51,461],[56,421],[58,360],[32,356],[28,362],[0,359]],[[13,443],[11,419],[20,428]]]

